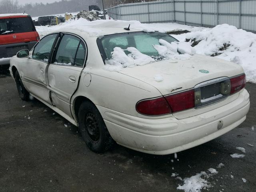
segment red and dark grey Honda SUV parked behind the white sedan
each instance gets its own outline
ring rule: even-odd
[[[31,50],[40,40],[32,18],[27,14],[0,14],[0,65],[20,50]]]

